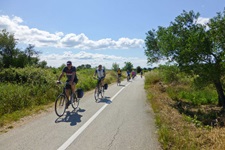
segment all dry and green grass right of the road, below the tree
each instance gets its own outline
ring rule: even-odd
[[[146,73],[145,89],[155,112],[162,149],[225,149],[222,125],[225,114],[215,105],[214,91],[207,88],[202,93],[192,91],[190,82],[185,80],[182,84],[178,78],[175,84],[165,84],[168,82],[163,82],[161,73],[158,70]],[[194,96],[200,102],[193,101]],[[217,119],[220,121],[216,122]]]

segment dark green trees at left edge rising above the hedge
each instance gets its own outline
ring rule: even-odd
[[[45,68],[46,61],[39,62],[39,51],[34,49],[34,45],[28,45],[25,51],[16,48],[17,41],[14,34],[2,30],[0,32],[0,68],[24,68],[25,66],[35,66]]]

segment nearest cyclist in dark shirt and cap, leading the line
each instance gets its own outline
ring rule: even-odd
[[[73,94],[75,94],[76,84],[78,82],[78,78],[76,75],[76,67],[72,66],[71,61],[67,61],[66,64],[67,64],[67,66],[63,68],[62,73],[59,76],[58,82],[60,82],[61,78],[64,76],[64,74],[66,74],[66,76],[67,76],[66,82],[69,83]],[[66,95],[69,98],[69,89],[66,89]],[[66,109],[68,108],[68,106],[69,106],[69,102],[66,103]]]

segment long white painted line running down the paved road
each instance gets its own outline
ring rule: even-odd
[[[128,86],[130,83],[128,83],[126,86]],[[125,87],[120,89],[110,100],[113,101],[113,99],[123,91]],[[108,104],[105,104],[102,106],[83,126],[81,126],[62,146],[58,148],[58,150],[65,150],[90,124],[91,122],[108,106]]]

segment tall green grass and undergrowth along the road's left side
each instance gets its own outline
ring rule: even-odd
[[[97,84],[97,80],[93,78],[94,71],[94,69],[79,70],[77,88],[82,88],[84,92],[94,89]],[[56,84],[60,72],[59,69],[41,68],[10,68],[1,72],[0,132],[5,126],[13,128],[10,124],[25,116],[38,114],[49,105],[53,107],[55,98],[62,91],[63,85]],[[65,80],[66,77],[62,79],[63,82]],[[116,72],[107,70],[105,83],[114,82]]]

